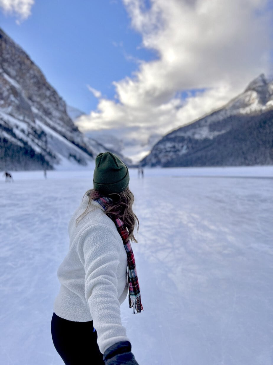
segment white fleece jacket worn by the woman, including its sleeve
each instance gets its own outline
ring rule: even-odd
[[[61,283],[54,312],[75,322],[93,320],[100,352],[118,341],[129,341],[121,324],[120,304],[128,293],[127,254],[115,223],[88,197],[68,224],[69,250],[58,269]]]

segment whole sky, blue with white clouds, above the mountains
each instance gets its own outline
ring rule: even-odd
[[[127,145],[273,74],[272,0],[0,0],[0,9],[3,30],[87,114],[80,130]]]

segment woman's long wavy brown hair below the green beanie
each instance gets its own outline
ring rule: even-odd
[[[136,226],[138,231],[139,220],[132,210],[135,197],[128,187],[121,193],[112,193],[108,195],[100,193],[95,189],[89,189],[84,195],[89,197],[88,205],[86,210],[76,219],[76,224],[78,224],[79,220],[87,213],[93,199],[107,196],[111,198],[111,201],[105,204],[105,214],[114,219],[121,219],[128,230],[128,239],[138,242],[134,236],[134,228]]]

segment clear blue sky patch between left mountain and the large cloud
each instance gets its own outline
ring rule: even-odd
[[[88,113],[97,100],[87,84],[113,98],[113,81],[130,76],[136,59],[155,53],[141,47],[121,1],[36,1],[18,25],[16,14],[0,12],[0,26],[39,66],[72,106]]]

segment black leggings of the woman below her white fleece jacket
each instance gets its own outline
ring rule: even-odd
[[[73,322],[53,313],[51,335],[58,354],[66,365],[105,365],[97,344],[93,321]]]

